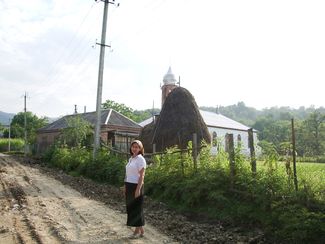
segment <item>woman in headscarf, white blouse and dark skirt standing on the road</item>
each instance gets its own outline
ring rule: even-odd
[[[130,153],[131,158],[125,167],[126,225],[135,227],[131,238],[138,238],[144,235],[143,183],[147,166],[142,142],[134,140]]]

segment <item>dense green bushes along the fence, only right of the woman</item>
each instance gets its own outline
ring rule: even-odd
[[[156,157],[147,169],[146,194],[176,209],[208,215],[227,223],[264,226],[275,243],[322,243],[325,233],[324,202],[310,188],[295,192],[292,178],[277,166],[273,148],[264,155],[264,168],[255,177],[250,163],[236,150],[236,176],[230,189],[227,155],[200,154],[194,169],[191,154]],[[318,210],[307,208],[308,204]],[[314,226],[314,227],[313,227]]]

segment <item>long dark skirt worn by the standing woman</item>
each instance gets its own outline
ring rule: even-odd
[[[144,226],[143,186],[141,188],[141,195],[135,198],[134,194],[137,185],[138,184],[125,182],[126,213],[128,215],[126,222],[127,226]]]

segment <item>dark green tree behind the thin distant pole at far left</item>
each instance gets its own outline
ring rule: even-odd
[[[36,131],[48,123],[45,117],[38,118],[32,112],[26,112],[26,129],[27,129],[27,142],[34,144],[36,142]],[[8,137],[8,131],[5,131],[5,137]],[[16,114],[11,121],[11,137],[24,138],[25,136],[25,113],[20,112]]]

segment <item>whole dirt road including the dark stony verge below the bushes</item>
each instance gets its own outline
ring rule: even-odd
[[[177,214],[145,198],[145,238],[130,240],[116,187],[0,156],[0,243],[265,243],[258,229]]]

